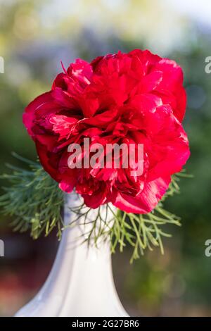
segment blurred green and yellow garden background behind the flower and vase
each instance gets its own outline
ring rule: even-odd
[[[184,6],[186,3],[186,6]],[[129,264],[131,251],[113,256],[115,283],[132,316],[211,316],[211,56],[209,1],[167,0],[0,0],[0,170],[15,163],[11,151],[36,158],[22,124],[25,106],[51,88],[53,78],[75,58],[135,48],[150,49],[184,68],[188,106],[185,130],[191,146],[186,165],[193,179],[181,181],[181,194],[165,206],[181,216],[172,228],[165,255],[146,252]],[[188,11],[189,7],[191,11]],[[208,7],[206,7],[208,6]],[[195,8],[195,7],[194,7]],[[210,20],[209,20],[210,13]],[[49,273],[58,243],[55,234],[32,241],[13,233],[1,216],[0,316],[12,316],[29,301]]]

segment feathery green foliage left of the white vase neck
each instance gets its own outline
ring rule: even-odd
[[[63,192],[41,167],[33,162],[13,154],[28,165],[27,169],[7,165],[12,173],[4,174],[8,186],[3,187],[4,194],[0,196],[1,213],[13,216],[11,225],[15,231],[30,230],[32,238],[41,234],[49,235],[57,227],[58,238],[63,228]]]

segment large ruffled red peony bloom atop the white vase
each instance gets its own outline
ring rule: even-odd
[[[44,169],[65,192],[91,208],[111,202],[122,211],[148,213],[165,194],[171,175],[190,154],[181,125],[186,108],[183,73],[167,58],[139,49],[76,60],[51,91],[25,109],[23,123]],[[143,173],[131,168],[68,167],[68,146],[143,144]],[[105,155],[103,155],[104,157]]]

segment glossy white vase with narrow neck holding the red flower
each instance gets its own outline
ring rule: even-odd
[[[75,217],[70,207],[78,206],[79,203],[77,194],[67,194],[66,225]],[[89,219],[94,218],[96,212],[89,212]],[[113,218],[111,211],[108,212],[107,220],[109,218]],[[16,317],[128,316],[113,282],[109,242],[101,242],[98,248],[88,247],[86,242],[81,244],[84,229],[78,222],[63,231],[49,277],[34,299],[15,314]]]

